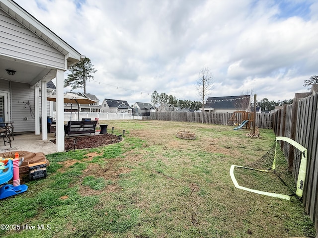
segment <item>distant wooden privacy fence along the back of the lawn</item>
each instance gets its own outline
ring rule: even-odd
[[[169,120],[198,122],[219,125],[234,125],[233,113],[190,113],[190,112],[156,112],[150,114],[152,120]],[[242,113],[236,113],[237,122],[242,121]],[[273,114],[256,113],[256,126],[263,129],[273,128]]]

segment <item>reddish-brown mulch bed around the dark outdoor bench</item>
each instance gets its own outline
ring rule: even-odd
[[[88,136],[72,136],[71,138],[65,138],[65,151],[74,149],[74,139],[77,138],[77,144],[75,145],[75,149],[86,149],[93,148],[103,145],[109,145],[118,143],[118,136],[114,134],[104,134],[104,135],[88,135]],[[122,140],[122,139],[120,139]],[[56,139],[51,140],[54,144],[56,144]]]

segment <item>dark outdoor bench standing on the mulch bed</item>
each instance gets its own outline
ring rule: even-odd
[[[97,121],[91,120],[69,120],[67,124],[64,125],[64,132],[69,137],[70,135],[76,135],[76,134],[88,134],[88,133],[94,133],[95,134],[95,127],[96,127]]]

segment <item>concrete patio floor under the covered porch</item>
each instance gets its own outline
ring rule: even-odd
[[[12,139],[12,137],[11,137]],[[56,144],[50,140],[55,139],[54,133],[48,134],[47,140],[42,140],[42,135],[35,135],[31,133],[18,133],[14,135],[14,140],[11,142],[12,148],[9,143],[3,143],[3,138],[0,137],[0,153],[8,151],[30,151],[42,152],[45,155],[56,152]]]

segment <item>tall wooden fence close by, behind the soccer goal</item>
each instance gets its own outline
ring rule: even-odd
[[[303,192],[303,204],[318,230],[318,94],[294,100],[275,113],[276,136],[289,137],[307,148],[307,170]],[[282,146],[295,181],[299,173],[300,152],[293,146]],[[318,233],[316,235],[318,237]]]

